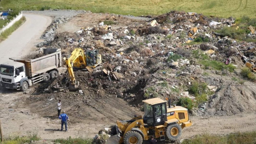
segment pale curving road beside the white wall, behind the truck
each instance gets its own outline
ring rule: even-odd
[[[52,18],[42,15],[23,14],[26,22],[15,30],[5,41],[0,43],[0,62],[9,57],[28,53],[40,41],[40,36],[50,25]]]

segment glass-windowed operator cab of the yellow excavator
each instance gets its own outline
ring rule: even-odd
[[[86,56],[86,66],[95,68],[101,63],[101,55],[98,50],[87,50],[84,55]]]

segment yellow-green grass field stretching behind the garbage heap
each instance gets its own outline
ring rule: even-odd
[[[19,10],[75,9],[95,13],[159,15],[170,10],[219,17],[256,17],[255,0],[2,0],[1,7]]]

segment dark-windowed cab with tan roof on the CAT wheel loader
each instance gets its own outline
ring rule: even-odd
[[[161,98],[152,98],[142,101],[144,103],[143,122],[148,126],[158,126],[167,121],[166,102]]]

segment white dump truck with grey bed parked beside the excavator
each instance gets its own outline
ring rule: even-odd
[[[25,56],[9,58],[0,64],[1,87],[26,91],[28,87],[49,82],[58,76],[61,67],[61,49],[40,48]]]

